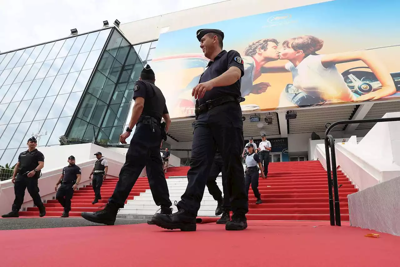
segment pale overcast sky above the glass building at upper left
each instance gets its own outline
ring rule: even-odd
[[[121,24],[223,0],[0,0],[0,51],[6,52],[96,30],[103,20]]]

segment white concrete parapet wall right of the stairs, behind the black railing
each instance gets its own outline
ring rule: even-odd
[[[400,112],[383,117],[400,117]],[[336,167],[360,190],[400,176],[400,121],[379,122],[357,144],[356,136],[335,144]],[[317,144],[314,155],[326,169],[324,144]]]

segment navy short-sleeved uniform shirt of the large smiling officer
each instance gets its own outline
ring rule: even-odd
[[[244,66],[243,60],[240,57],[240,54],[237,51],[231,50],[226,52],[222,50],[219,53],[214,61],[210,61],[208,63],[207,69],[204,71],[202,76],[200,77],[199,83],[204,83],[206,81],[210,81],[220,75],[222,75],[225,71],[227,71],[230,67],[235,66],[240,69],[242,74],[240,77],[244,75]],[[204,104],[208,100],[217,99],[219,97],[223,97],[226,95],[231,95],[233,97],[241,97],[242,94],[240,93],[240,83],[242,78],[238,79],[236,83],[229,85],[229,86],[221,86],[221,87],[214,87],[210,91],[207,91],[204,94],[203,98],[199,99],[199,105]]]

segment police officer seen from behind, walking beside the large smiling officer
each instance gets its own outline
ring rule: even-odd
[[[114,193],[103,210],[93,213],[82,212],[82,217],[86,220],[114,225],[118,209],[124,207],[125,200],[145,166],[154,202],[157,206],[161,206],[162,214],[172,213],[172,208],[170,208],[172,203],[162,171],[160,155],[161,141],[162,139],[166,140],[166,132],[171,119],[165,105],[164,95],[154,85],[154,81],[154,72],[147,65],[134,86],[133,99],[135,103],[132,116],[125,133],[120,136],[120,142],[126,144],[126,138],[130,136],[132,128],[136,125]],[[162,117],[165,123],[161,123]]]

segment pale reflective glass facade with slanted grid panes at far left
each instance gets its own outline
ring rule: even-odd
[[[15,164],[34,134],[42,134],[38,146],[60,144],[111,30],[0,55],[0,165]],[[114,48],[107,53],[118,58]],[[118,76],[114,69],[110,79]]]

